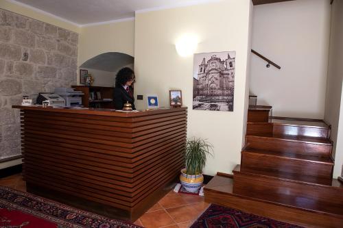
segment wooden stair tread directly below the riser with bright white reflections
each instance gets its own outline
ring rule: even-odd
[[[304,143],[313,143],[313,144],[324,144],[331,145],[331,140],[327,138],[315,138],[307,136],[287,136],[287,135],[273,135],[273,134],[261,134],[260,136],[247,135],[249,138],[261,138],[265,140],[284,140],[292,142],[304,142]]]

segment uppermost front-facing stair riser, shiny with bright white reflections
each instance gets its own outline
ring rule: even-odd
[[[273,134],[329,138],[329,129],[320,127],[274,125]]]

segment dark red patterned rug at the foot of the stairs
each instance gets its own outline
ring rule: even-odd
[[[248,214],[228,207],[222,207],[212,204],[199,218],[191,228],[303,228],[289,223],[283,223],[278,220]]]

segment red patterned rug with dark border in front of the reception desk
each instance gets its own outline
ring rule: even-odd
[[[139,226],[0,186],[0,228],[19,227],[138,228]]]

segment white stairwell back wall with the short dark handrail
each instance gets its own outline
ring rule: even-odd
[[[330,33],[330,3],[297,0],[254,6],[250,93],[274,116],[324,117]]]

